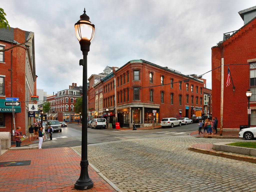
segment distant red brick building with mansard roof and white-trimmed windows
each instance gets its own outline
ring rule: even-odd
[[[47,97],[51,103],[49,112],[50,120],[77,122],[80,119],[80,112],[76,111],[76,99],[80,98],[83,92],[82,86],[72,83],[69,89],[58,91],[55,95]]]

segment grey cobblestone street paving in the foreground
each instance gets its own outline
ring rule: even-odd
[[[88,145],[88,159],[123,192],[256,191],[255,164],[188,150],[224,141],[239,140],[176,136],[98,143]]]

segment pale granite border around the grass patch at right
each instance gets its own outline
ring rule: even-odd
[[[229,143],[234,143],[234,142],[214,143],[212,148],[217,151],[225,151],[225,152],[231,152],[231,153],[237,153],[237,154],[243,154],[243,155],[256,156],[256,149],[254,148],[227,145]]]

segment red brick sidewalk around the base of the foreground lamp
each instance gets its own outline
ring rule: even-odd
[[[31,160],[27,166],[0,167],[0,191],[104,191],[115,190],[88,167],[94,186],[88,190],[74,189],[80,176],[80,156],[69,147],[8,150],[0,162]]]

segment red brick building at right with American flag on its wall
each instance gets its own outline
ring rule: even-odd
[[[251,126],[256,126],[256,7],[239,12],[244,25],[225,33],[212,50],[212,69],[221,66],[224,59],[223,129],[239,129],[239,125],[248,124],[248,99],[246,91],[250,89]],[[241,65],[242,64],[242,65]],[[232,83],[226,87],[228,65]],[[221,68],[212,71],[212,115],[219,119],[220,127]],[[232,119],[232,120],[231,120]]]

